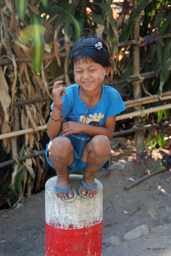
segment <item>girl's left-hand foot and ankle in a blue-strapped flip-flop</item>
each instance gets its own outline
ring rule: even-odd
[[[69,183],[70,183],[69,177],[58,177],[56,187],[59,187],[60,189],[66,189]],[[68,191],[68,194],[64,194],[56,191],[56,196],[62,200],[68,200],[69,198],[72,198],[73,193],[72,193],[71,187],[70,187],[70,190]]]

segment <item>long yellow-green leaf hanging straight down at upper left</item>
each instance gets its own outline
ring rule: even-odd
[[[41,16],[30,14],[30,27],[32,29],[32,67],[37,76],[40,75],[45,39],[43,37],[43,22]]]

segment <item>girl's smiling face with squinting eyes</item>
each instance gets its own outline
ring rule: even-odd
[[[100,91],[104,77],[109,72],[110,67],[103,67],[91,59],[80,59],[74,63],[75,82],[89,96]]]

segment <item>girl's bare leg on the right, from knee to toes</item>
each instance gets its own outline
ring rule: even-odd
[[[83,162],[88,162],[87,167],[84,169],[83,180],[86,181],[88,186],[95,183],[94,176],[109,159],[111,152],[110,141],[107,136],[97,135],[94,136],[85,146],[83,150]],[[82,195],[95,196],[97,195],[97,188],[88,190],[82,185]]]

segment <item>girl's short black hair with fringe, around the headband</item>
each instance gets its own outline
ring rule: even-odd
[[[102,43],[102,48],[100,50],[95,47],[98,42]],[[94,45],[94,47],[92,45]],[[86,47],[90,48],[85,49]],[[86,37],[82,37],[75,42],[74,47],[71,51],[72,72],[74,72],[74,63],[80,59],[85,59],[85,61],[87,61],[87,59],[91,59],[92,61],[100,64],[103,67],[111,67],[111,61],[109,58],[107,45],[102,38],[96,37],[95,35],[88,35]]]

